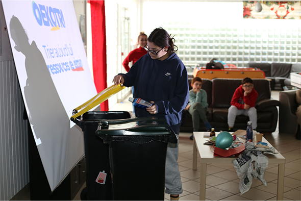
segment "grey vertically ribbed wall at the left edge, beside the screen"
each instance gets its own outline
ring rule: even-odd
[[[28,122],[0,2],[0,200],[29,183]]]

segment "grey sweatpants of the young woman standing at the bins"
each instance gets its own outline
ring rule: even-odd
[[[178,137],[177,144],[167,144],[167,154],[165,162],[165,193],[177,195],[183,192],[181,175],[179,171],[179,132],[180,124],[170,126]]]

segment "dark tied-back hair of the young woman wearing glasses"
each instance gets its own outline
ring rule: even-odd
[[[173,52],[178,51],[178,47],[176,45],[174,45],[175,40],[173,37],[174,36],[171,37],[171,35],[169,35],[167,33],[167,31],[164,30],[162,27],[159,27],[159,28],[154,29],[154,31],[152,31],[152,33],[150,33],[147,40],[149,42],[154,43],[158,47],[168,46],[167,53],[169,55],[171,55]],[[177,47],[177,49],[174,50],[174,47]]]

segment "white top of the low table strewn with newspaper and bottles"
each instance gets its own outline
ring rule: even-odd
[[[204,142],[209,140],[209,137],[204,137],[204,134],[208,134],[209,132],[193,132],[193,138],[196,144],[196,148],[200,155],[201,163],[233,163],[236,159],[235,156],[231,157],[218,157],[213,156],[213,147],[212,145],[205,145]],[[219,132],[215,132],[216,135]],[[262,137],[262,142],[266,142],[268,146],[272,146],[264,137]],[[212,148],[211,148],[212,147]],[[285,158],[279,154],[264,154],[269,158],[270,164],[284,164]]]

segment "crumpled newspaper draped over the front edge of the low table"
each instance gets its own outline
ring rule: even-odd
[[[263,153],[278,154],[279,152],[275,152],[274,147],[256,147],[253,142],[247,142],[245,143],[243,153],[233,161],[238,178],[240,179],[240,195],[250,189],[253,178],[260,180],[266,186],[264,172],[268,166],[268,158]]]

